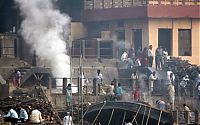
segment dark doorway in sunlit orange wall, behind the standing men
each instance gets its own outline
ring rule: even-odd
[[[158,46],[166,48],[169,55],[172,53],[172,29],[158,29]]]

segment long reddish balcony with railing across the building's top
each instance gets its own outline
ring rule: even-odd
[[[200,0],[85,0],[83,22],[138,18],[200,18]]]

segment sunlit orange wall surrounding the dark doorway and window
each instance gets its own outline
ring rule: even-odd
[[[149,44],[153,45],[153,53],[158,47],[158,29],[172,29],[172,56],[181,57],[200,65],[200,20],[199,19],[149,19]],[[178,29],[191,29],[192,56],[178,55]]]

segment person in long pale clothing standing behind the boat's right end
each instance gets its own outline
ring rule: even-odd
[[[172,110],[174,110],[174,102],[175,102],[175,87],[173,84],[169,84],[168,86],[168,94],[169,94],[169,102]]]

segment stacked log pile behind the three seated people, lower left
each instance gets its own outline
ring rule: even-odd
[[[10,108],[16,109],[17,104],[21,104],[22,108],[26,109],[29,116],[31,111],[37,108],[42,113],[42,118],[45,119],[47,123],[60,123],[60,119],[57,117],[52,105],[43,98],[31,98],[29,96],[9,96],[6,99],[0,100],[0,111],[2,111],[4,114],[7,114]]]

